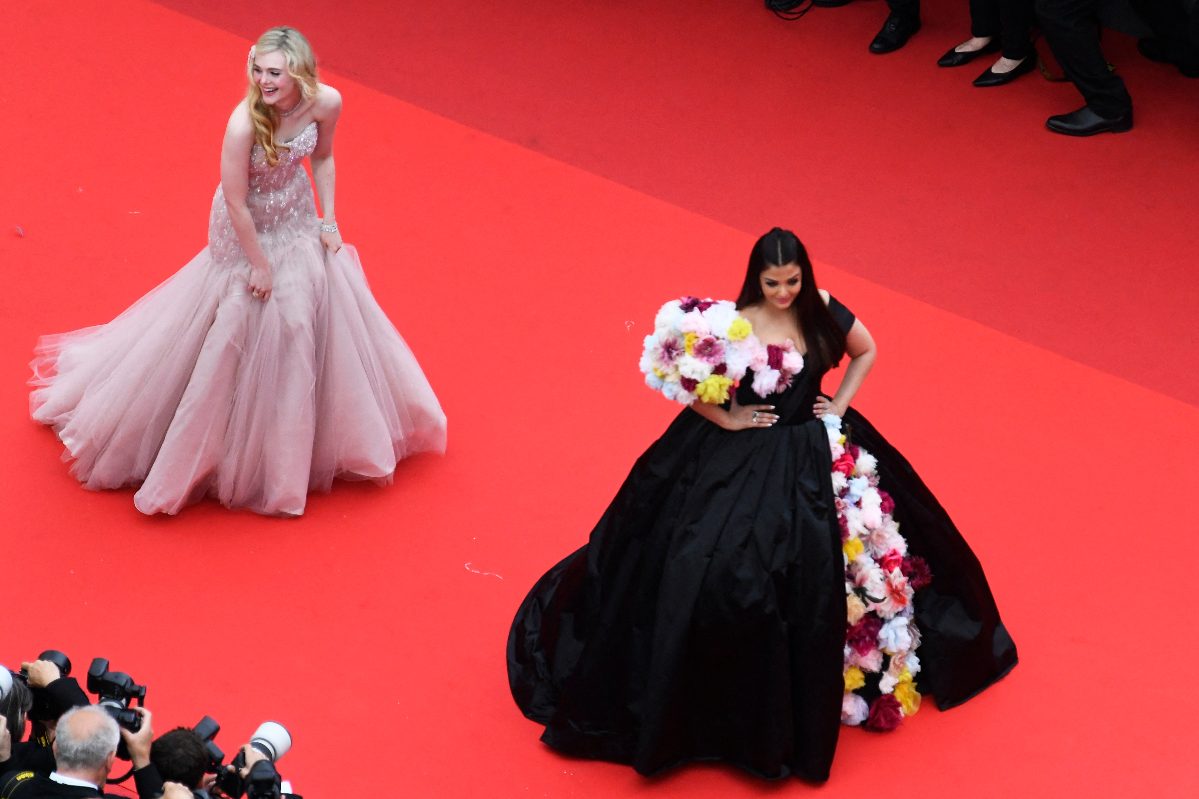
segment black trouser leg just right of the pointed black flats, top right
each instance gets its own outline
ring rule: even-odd
[[[1131,113],[1123,78],[1108,71],[1099,49],[1095,0],[1036,0],[1036,8],[1049,49],[1091,110],[1107,119]]]

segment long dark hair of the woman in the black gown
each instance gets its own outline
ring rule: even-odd
[[[795,326],[803,335],[807,345],[805,358],[818,373],[832,369],[845,355],[845,332],[832,316],[817,287],[817,278],[812,272],[812,259],[803,242],[790,230],[775,228],[758,240],[749,252],[749,267],[746,270],[746,282],[737,297],[737,310],[753,305],[766,298],[761,291],[761,273],[772,266],[800,267],[800,293],[791,303],[795,314]]]

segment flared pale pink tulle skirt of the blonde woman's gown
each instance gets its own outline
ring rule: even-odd
[[[335,477],[387,483],[445,450],[445,414],[354,247],[301,237],[273,255],[265,303],[245,260],[205,248],[108,325],[42,337],[32,417],[85,488],[140,484],[146,514],[212,496],[299,515]]]

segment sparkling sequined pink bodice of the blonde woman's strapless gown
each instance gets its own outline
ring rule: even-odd
[[[279,147],[275,167],[266,163],[266,151],[254,144],[249,152],[249,206],[258,241],[273,260],[289,244],[301,238],[320,238],[320,222],[313,198],[312,181],[303,159],[317,149],[317,123],[309,122],[296,138]],[[248,266],[237,234],[229,220],[224,192],[217,187],[209,218],[209,248],[217,262]]]

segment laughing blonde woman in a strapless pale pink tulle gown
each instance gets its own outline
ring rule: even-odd
[[[209,246],[108,325],[43,337],[32,363],[34,419],[72,473],[140,484],[146,514],[211,496],[296,516],[335,477],[386,483],[400,459],[445,450],[441,406],[337,230],[341,96],[290,28],[264,34],[247,69]]]

